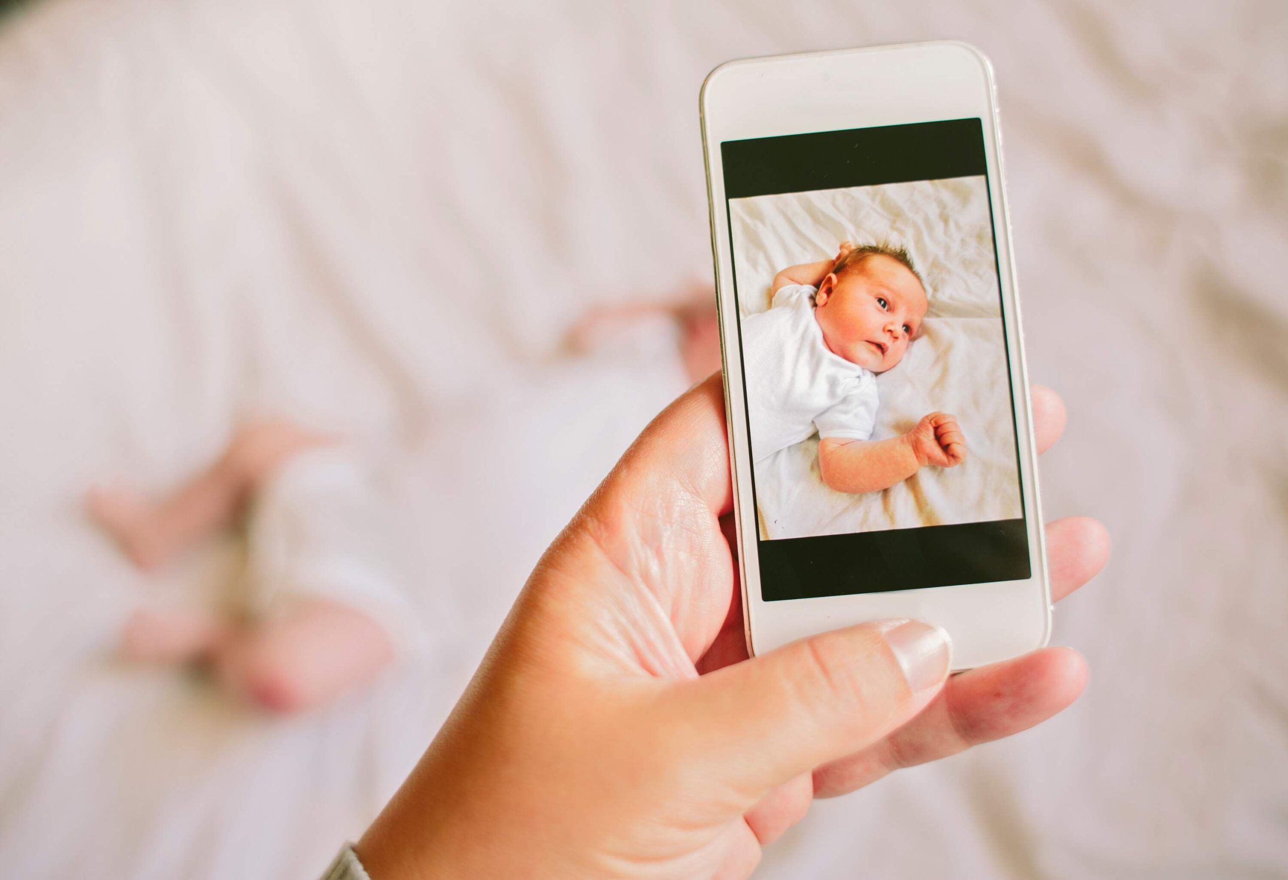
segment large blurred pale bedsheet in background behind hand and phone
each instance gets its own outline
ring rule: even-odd
[[[1282,876],[1276,0],[49,0],[13,15],[9,874],[321,872],[433,734],[536,554],[680,383],[656,368],[662,334],[585,366],[544,353],[587,303],[710,277],[706,71],[929,37],[976,43],[1001,85],[1030,371],[1072,412],[1042,465],[1046,510],[1117,536],[1105,576],[1056,616],[1092,680],[1038,731],[819,804],[761,875]],[[107,660],[140,597],[218,577],[193,560],[142,581],[77,501],[104,474],[171,483],[269,405],[398,452],[411,591],[438,634],[424,667],[283,722]]]

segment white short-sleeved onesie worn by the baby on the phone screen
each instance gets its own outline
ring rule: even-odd
[[[769,311],[742,320],[751,457],[761,461],[808,438],[868,439],[876,376],[833,354],[814,318],[814,287],[787,285]]]

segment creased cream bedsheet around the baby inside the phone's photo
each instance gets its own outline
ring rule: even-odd
[[[846,495],[818,470],[818,438],[756,465],[761,532],[769,539],[949,526],[1021,515],[1015,428],[998,307],[988,184],[983,177],[735,198],[729,205],[738,308],[762,312],[783,268],[835,255],[841,241],[903,245],[930,303],[904,359],[877,376],[872,439],[952,412],[969,457],[923,468],[881,492]]]

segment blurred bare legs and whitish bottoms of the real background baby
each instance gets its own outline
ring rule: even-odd
[[[89,492],[90,515],[143,571],[243,527],[242,600],[225,612],[144,608],[121,653],[200,662],[231,693],[295,713],[372,682],[412,638],[392,573],[388,505],[362,456],[286,420],[241,426],[223,455],[165,499]],[[233,598],[233,597],[228,597]]]

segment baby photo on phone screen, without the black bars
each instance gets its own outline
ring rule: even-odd
[[[729,209],[761,539],[1019,517],[985,178]]]

